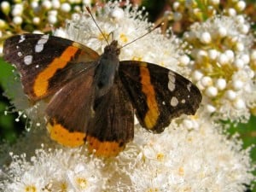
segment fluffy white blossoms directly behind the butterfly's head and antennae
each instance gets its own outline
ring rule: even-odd
[[[122,17],[122,20],[119,20],[119,17]],[[108,38],[108,43],[116,39],[122,46],[143,36],[152,26],[140,17],[141,12],[131,8],[131,5],[122,11],[110,5],[109,9],[105,9],[103,13],[102,11],[97,13],[96,23],[100,26],[105,38]],[[107,45],[102,33],[88,15],[80,15],[74,17],[73,20],[68,20],[66,33],[67,38],[85,44],[98,53],[102,53]],[[176,43],[174,38],[164,38],[159,30],[154,30],[154,32],[150,32],[147,36],[137,40],[136,43],[121,49],[119,58],[120,60],[153,62],[172,68],[172,70],[183,68],[180,71],[186,74],[189,72],[189,68],[182,67],[182,65],[178,66],[179,54],[182,52],[179,46],[180,44]]]

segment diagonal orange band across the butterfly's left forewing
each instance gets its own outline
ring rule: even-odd
[[[51,79],[58,69],[67,66],[67,62],[71,61],[72,57],[78,52],[79,48],[68,46],[67,49],[63,51],[60,57],[57,57],[49,63],[49,65],[38,74],[35,80],[33,90],[36,96],[44,96],[47,92],[49,79]]]

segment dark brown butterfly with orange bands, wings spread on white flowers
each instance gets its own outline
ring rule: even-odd
[[[188,79],[144,61],[119,61],[113,40],[102,55],[65,38],[26,33],[5,40],[3,58],[20,73],[32,102],[45,109],[49,136],[58,143],[109,157],[134,137],[134,115],[160,133],[181,114],[194,114],[201,92]]]

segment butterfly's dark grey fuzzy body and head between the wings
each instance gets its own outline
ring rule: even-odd
[[[96,96],[104,96],[112,87],[115,74],[119,68],[119,53],[120,49],[117,41],[113,41],[105,47],[96,67]]]

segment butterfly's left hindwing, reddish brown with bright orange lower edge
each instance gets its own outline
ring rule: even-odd
[[[58,143],[77,147],[85,143],[93,117],[95,67],[79,74],[55,93],[46,108],[50,137]]]

